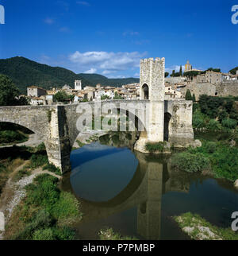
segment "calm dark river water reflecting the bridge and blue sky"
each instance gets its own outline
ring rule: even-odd
[[[71,165],[63,189],[82,202],[79,239],[98,239],[104,227],[139,239],[188,239],[171,216],[191,211],[230,227],[232,212],[238,211],[238,192],[231,183],[178,173],[169,157],[96,142],[73,151]]]

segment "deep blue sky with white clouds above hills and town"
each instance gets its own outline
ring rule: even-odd
[[[25,56],[72,71],[136,77],[141,58],[168,72],[238,66],[238,0],[0,0],[0,58]]]

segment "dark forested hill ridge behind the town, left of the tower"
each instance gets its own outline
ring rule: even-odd
[[[75,80],[82,80],[83,87],[86,85],[95,86],[97,83],[101,83],[102,86],[120,87],[126,83],[139,82],[139,79],[134,78],[108,79],[106,76],[97,74],[75,74],[66,68],[51,67],[24,57],[0,60],[0,74],[9,76],[21,93],[26,93],[26,87],[32,85],[45,89],[63,87],[64,84],[74,87]]]

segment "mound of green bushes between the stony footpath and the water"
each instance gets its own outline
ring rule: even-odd
[[[80,204],[71,193],[60,191],[57,183],[57,178],[43,174],[25,187],[26,197],[13,211],[6,239],[75,239],[72,224],[82,219]]]

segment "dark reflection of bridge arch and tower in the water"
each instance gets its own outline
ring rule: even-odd
[[[189,192],[190,181],[181,180],[176,172],[171,172],[167,157],[158,160],[139,152],[135,152],[135,155],[139,161],[136,173],[117,196],[103,202],[80,198],[84,213],[83,220],[79,223],[80,226],[107,219],[111,215],[131,208],[137,208],[137,234],[143,239],[160,239],[163,193]],[[69,180],[68,178],[64,180],[64,183],[68,183],[63,184],[64,188],[70,186]]]

